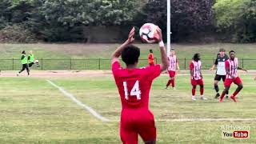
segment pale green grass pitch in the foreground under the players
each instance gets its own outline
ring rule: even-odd
[[[205,74],[206,101],[190,100],[188,75],[178,75],[177,89],[164,90],[167,76],[157,78],[150,92],[150,109],[158,130],[158,143],[254,143],[256,120],[206,121],[202,118],[255,118],[256,82],[241,75],[244,89],[238,103],[214,98],[212,74]],[[110,74],[88,78],[50,78],[79,101],[110,122],[94,118],[66,98],[46,78],[0,78],[0,143],[121,143],[118,90]],[[220,85],[222,90],[222,85]],[[232,86],[231,91],[234,91]],[[198,90],[197,90],[198,94]],[[180,122],[191,119],[190,122]],[[198,118],[193,120],[193,118]],[[175,120],[175,121],[174,121]],[[250,126],[249,139],[222,139],[221,126]],[[142,141],[140,140],[140,143]]]

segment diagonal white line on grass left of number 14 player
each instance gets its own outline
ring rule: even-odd
[[[88,110],[90,114],[94,115],[94,117],[102,120],[102,122],[110,121],[109,119],[102,117],[100,114],[94,111],[90,106],[86,106],[85,104],[80,102],[77,98],[74,97],[73,94],[66,92],[66,90],[64,90],[62,87],[55,85],[54,82],[51,82],[50,80],[46,80],[46,81],[49,82],[52,86],[58,88],[58,90],[60,90],[64,95],[66,95],[67,98],[70,98],[72,101],[74,101],[78,106],[82,106],[85,110]]]

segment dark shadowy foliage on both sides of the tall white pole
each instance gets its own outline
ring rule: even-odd
[[[171,31],[174,41],[184,41],[198,33],[212,32],[213,0],[180,1],[171,0]],[[155,0],[142,10],[144,22],[153,22],[166,30],[166,0]]]

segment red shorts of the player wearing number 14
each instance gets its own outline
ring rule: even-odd
[[[138,134],[143,141],[156,140],[154,115],[150,110],[122,110],[120,137],[123,143],[138,143]]]

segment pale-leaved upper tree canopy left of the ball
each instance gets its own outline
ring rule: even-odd
[[[46,22],[60,22],[63,26],[121,25],[132,20],[135,3],[134,0],[46,0],[40,12]]]

